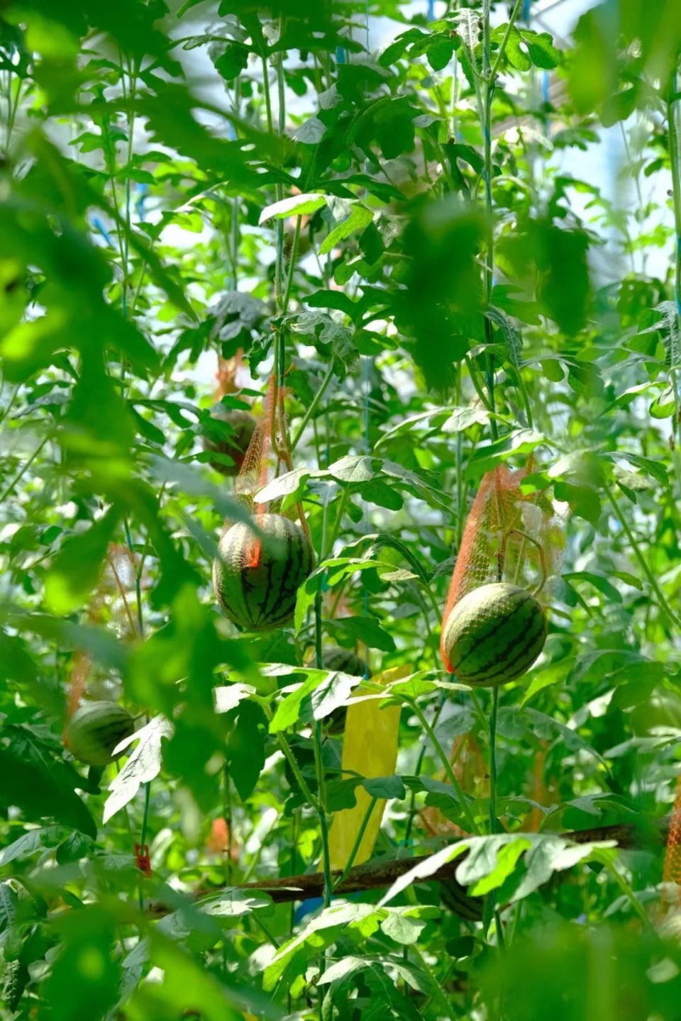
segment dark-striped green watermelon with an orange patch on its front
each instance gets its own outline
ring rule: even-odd
[[[290,620],[314,553],[300,526],[282,515],[264,514],[256,526],[264,539],[242,522],[225,532],[212,564],[212,587],[234,624],[267,631]]]

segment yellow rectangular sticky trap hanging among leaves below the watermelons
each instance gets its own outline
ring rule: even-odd
[[[371,683],[390,684],[402,677],[408,677],[410,673],[412,673],[410,667],[394,667],[372,677]],[[361,693],[362,685],[356,691],[356,694]],[[400,707],[387,706],[385,709],[379,707],[380,700],[376,698],[350,703],[347,708],[341,761],[344,778],[357,773],[366,779],[371,779],[392,776],[395,772]],[[372,800],[363,787],[356,788],[355,796],[357,800],[354,808],[337,812],[331,824],[329,855],[332,869],[344,869],[347,865]],[[361,865],[371,858],[381,829],[385,806],[384,798],[374,806],[353,865]],[[321,870],[322,865],[320,865]]]

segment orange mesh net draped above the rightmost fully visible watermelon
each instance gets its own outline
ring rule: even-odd
[[[565,529],[548,491],[523,482],[535,466],[513,470],[499,465],[483,476],[469,516],[451,576],[442,617],[440,651],[453,673],[444,647],[445,626],[459,600],[492,582],[506,582],[548,598],[565,550]]]

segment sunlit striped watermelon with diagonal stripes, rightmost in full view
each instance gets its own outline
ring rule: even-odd
[[[546,640],[546,615],[531,592],[495,582],[453,606],[442,631],[449,671],[464,684],[497,687],[526,673]]]

